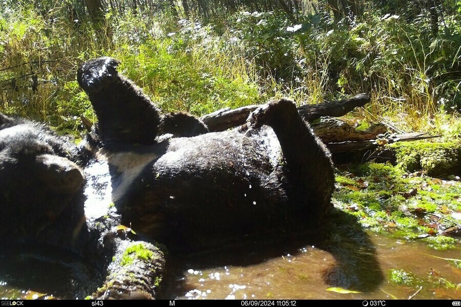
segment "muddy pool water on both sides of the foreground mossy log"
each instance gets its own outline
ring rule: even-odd
[[[175,261],[176,280],[167,293],[177,299],[406,299],[419,287],[397,286],[389,271],[405,270],[418,279],[429,274],[461,283],[461,269],[447,260],[460,258],[461,246],[448,251],[429,249],[423,242],[406,242],[384,235],[362,233],[341,237],[326,247],[281,248],[274,252],[195,255]],[[281,250],[284,250],[281,252]],[[277,254],[278,253],[278,254]],[[270,254],[270,256],[267,256]],[[36,298],[44,294],[66,294],[81,287],[88,276],[73,274],[78,260],[63,260],[36,254],[0,257],[0,298]],[[264,258],[266,257],[266,258]],[[213,262],[219,265],[209,265]],[[226,265],[225,265],[226,264]],[[230,264],[230,265],[228,265]],[[84,271],[79,269],[78,272]],[[25,273],[28,274],[25,274]],[[89,275],[91,275],[89,273]],[[11,276],[19,276],[11,279]],[[419,299],[461,298],[461,289],[447,289],[431,283],[423,285]],[[337,287],[361,293],[340,294]],[[88,289],[87,289],[88,291]],[[338,291],[338,289],[336,289]]]

